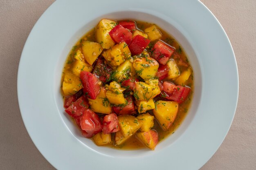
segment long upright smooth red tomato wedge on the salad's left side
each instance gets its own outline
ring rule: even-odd
[[[90,99],[96,99],[101,90],[101,82],[99,79],[88,71],[81,71],[80,79],[83,84],[83,92]]]

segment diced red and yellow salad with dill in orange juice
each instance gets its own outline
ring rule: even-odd
[[[62,76],[65,112],[98,146],[155,149],[184,119],[193,71],[157,25],[103,19],[70,51]]]

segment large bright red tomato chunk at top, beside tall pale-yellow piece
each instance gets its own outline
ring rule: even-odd
[[[120,24],[109,31],[109,35],[116,43],[126,42],[126,44],[130,44],[132,40],[132,33]]]

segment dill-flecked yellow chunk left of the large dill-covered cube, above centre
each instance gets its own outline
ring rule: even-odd
[[[126,60],[117,67],[117,69],[112,73],[112,76],[114,77],[115,81],[122,82],[128,77],[137,77],[137,74],[132,63],[129,60]]]

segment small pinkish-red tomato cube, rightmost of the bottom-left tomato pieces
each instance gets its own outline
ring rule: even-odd
[[[104,116],[102,124],[102,131],[104,134],[109,134],[120,130],[118,118],[115,113],[111,113],[109,115]]]

